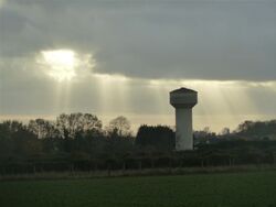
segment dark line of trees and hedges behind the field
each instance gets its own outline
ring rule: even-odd
[[[174,151],[174,131],[117,117],[104,127],[91,113],[0,123],[0,173],[97,171],[275,163],[276,121],[241,123],[230,132],[194,132],[194,151]],[[248,141],[250,140],[250,141]]]

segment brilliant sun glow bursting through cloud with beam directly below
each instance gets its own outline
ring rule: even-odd
[[[53,108],[56,111],[70,112],[72,87],[78,79],[91,75],[91,70],[96,66],[95,58],[92,54],[78,54],[73,50],[49,50],[41,51],[35,61],[47,77],[56,80],[53,83]]]

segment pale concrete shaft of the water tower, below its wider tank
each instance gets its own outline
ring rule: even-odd
[[[176,150],[193,150],[192,108],[176,108]]]

